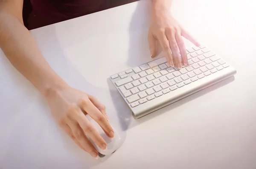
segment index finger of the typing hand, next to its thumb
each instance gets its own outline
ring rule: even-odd
[[[171,49],[170,49],[170,45],[169,42],[167,40],[167,37],[165,34],[160,34],[158,36],[158,40],[160,42],[160,45],[163,49],[163,52],[165,54],[166,60],[169,63],[169,65],[171,65],[172,67],[174,66],[174,62],[173,62],[173,58],[172,58],[172,53],[171,53]]]

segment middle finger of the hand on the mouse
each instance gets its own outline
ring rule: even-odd
[[[99,132],[93,127],[81,110],[77,113],[73,113],[71,118],[79,123],[81,129],[93,140],[94,143],[96,143],[103,150],[107,149],[107,143],[102,136],[99,135]]]

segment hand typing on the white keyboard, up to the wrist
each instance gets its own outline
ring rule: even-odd
[[[172,17],[169,9],[162,7],[153,8],[151,13],[151,24],[148,32],[148,42],[151,57],[157,54],[157,40],[163,49],[166,60],[171,66],[182,68],[188,64],[186,47],[182,36],[195,44],[200,44]],[[172,51],[172,52],[171,52]],[[181,55],[181,58],[180,58]]]

